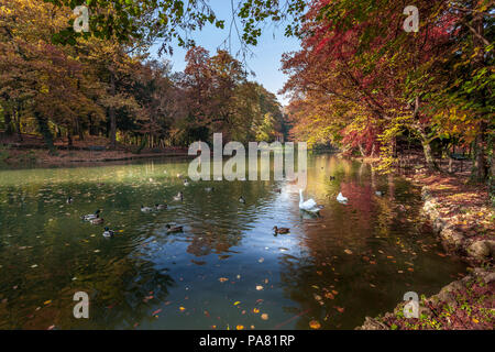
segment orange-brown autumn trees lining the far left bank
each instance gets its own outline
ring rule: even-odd
[[[146,147],[226,140],[274,141],[287,134],[276,96],[249,80],[227,51],[191,47],[184,72],[152,58],[151,42],[114,37],[54,41],[74,20],[68,7],[9,0],[0,7],[0,128],[7,135],[106,136]]]

